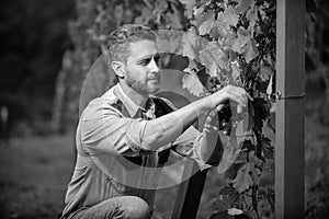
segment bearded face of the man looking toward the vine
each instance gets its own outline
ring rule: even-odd
[[[125,82],[138,93],[151,94],[160,89],[159,56],[156,43],[138,41],[131,43],[126,61]]]

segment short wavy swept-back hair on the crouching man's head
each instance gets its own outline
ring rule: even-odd
[[[113,31],[106,38],[111,60],[125,62],[129,56],[129,43],[156,41],[155,32],[141,24],[125,24]]]

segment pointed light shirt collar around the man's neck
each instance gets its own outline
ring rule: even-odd
[[[154,108],[155,103],[151,97],[149,97],[146,102],[146,108],[137,105],[127,94],[123,91],[120,83],[117,83],[114,88],[115,95],[122,101],[124,106],[126,107],[127,112],[129,113],[131,117],[136,117],[138,111],[146,112],[146,108]]]

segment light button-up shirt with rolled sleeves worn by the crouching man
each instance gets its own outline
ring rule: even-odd
[[[157,151],[143,149],[148,120],[175,110],[168,100],[156,96],[149,96],[146,108],[136,105],[120,84],[89,103],[77,128],[77,162],[63,218],[124,195],[139,196],[152,208],[161,168],[170,153],[190,157],[201,169],[209,166],[196,152],[202,134],[193,126]]]

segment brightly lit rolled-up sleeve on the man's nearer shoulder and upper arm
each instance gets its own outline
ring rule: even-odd
[[[146,120],[124,117],[104,101],[91,103],[80,118],[81,142],[86,152],[137,155]]]

